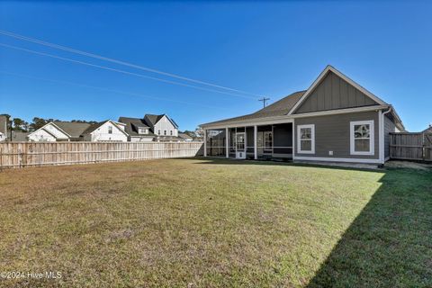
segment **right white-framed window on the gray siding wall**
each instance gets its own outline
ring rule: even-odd
[[[374,155],[374,121],[350,122],[351,155]]]

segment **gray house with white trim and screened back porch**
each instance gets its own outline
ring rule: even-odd
[[[305,91],[201,126],[207,157],[374,165],[390,157],[389,133],[405,130],[391,104],[331,66]]]

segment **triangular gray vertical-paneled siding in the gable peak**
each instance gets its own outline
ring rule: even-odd
[[[333,72],[329,72],[295,113],[362,107],[378,104]]]

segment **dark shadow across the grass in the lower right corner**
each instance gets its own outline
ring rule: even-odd
[[[307,287],[432,287],[432,173],[381,182]]]

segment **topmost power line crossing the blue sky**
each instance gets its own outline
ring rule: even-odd
[[[10,32],[10,31],[0,30],[0,34],[3,34],[5,36],[9,36],[9,37],[13,37],[13,38],[19,39],[19,40],[31,41],[33,43],[37,43],[37,44],[40,44],[40,45],[43,45],[43,46],[47,46],[47,47],[50,47],[50,48],[54,48],[54,49],[62,49],[62,50],[65,50],[67,52],[83,55],[83,56],[86,56],[86,57],[97,58],[97,59],[109,61],[109,62],[112,62],[112,63],[120,64],[120,65],[123,65],[123,66],[127,66],[127,67],[134,67],[134,68],[137,68],[137,69],[140,69],[140,70],[144,70],[144,71],[148,71],[148,72],[152,72],[152,73],[157,73],[157,74],[164,75],[164,76],[174,77],[174,78],[177,78],[177,79],[193,82],[193,83],[200,84],[200,85],[209,85],[209,86],[212,86],[212,87],[215,87],[215,88],[220,88],[220,89],[224,89],[224,90],[228,90],[228,91],[232,91],[232,92],[237,92],[237,93],[240,93],[240,94],[249,94],[249,95],[253,95],[253,96],[258,97],[257,94],[252,94],[252,93],[249,93],[249,92],[246,92],[246,91],[242,91],[242,90],[239,90],[239,89],[229,88],[227,86],[216,85],[216,84],[212,84],[212,83],[209,83],[209,82],[204,82],[204,81],[201,81],[201,80],[196,80],[196,79],[193,79],[193,78],[190,78],[190,77],[185,77],[185,76],[180,76],[180,75],[176,75],[176,74],[172,74],[172,73],[167,73],[167,72],[160,71],[160,70],[157,70],[157,69],[135,65],[135,64],[132,64],[132,63],[129,63],[129,62],[125,62],[125,61],[121,61],[121,60],[117,60],[117,59],[114,59],[114,58],[103,57],[103,56],[100,56],[100,55],[97,55],[97,54],[93,54],[93,53],[88,53],[88,52],[85,52],[85,51],[82,51],[82,50],[72,49],[72,48],[69,48],[69,47],[66,47],[66,46],[61,46],[61,45],[58,45],[58,44],[55,44],[55,43],[50,43],[50,42],[47,42],[47,41],[30,38],[30,37],[23,36],[23,35],[20,35],[20,34],[16,34],[16,33]]]

